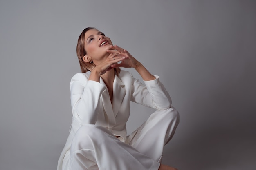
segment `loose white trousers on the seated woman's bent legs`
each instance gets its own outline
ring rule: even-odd
[[[158,170],[163,147],[179,124],[175,108],[157,110],[121,142],[94,124],[79,128],[70,148],[70,170]]]

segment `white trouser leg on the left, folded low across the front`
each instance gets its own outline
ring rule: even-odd
[[[79,128],[70,149],[70,170],[157,170],[159,163],[97,125]]]

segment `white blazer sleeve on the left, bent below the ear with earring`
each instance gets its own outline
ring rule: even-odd
[[[99,100],[106,86],[88,80],[83,73],[74,75],[70,82],[73,118],[80,124],[95,124],[99,113]]]

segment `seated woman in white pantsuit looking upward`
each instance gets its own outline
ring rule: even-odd
[[[76,52],[82,73],[70,82],[72,126],[57,169],[175,170],[160,164],[179,115],[159,77],[95,28],[83,30]],[[135,68],[146,86],[120,67]],[[127,136],[130,101],[156,111]]]

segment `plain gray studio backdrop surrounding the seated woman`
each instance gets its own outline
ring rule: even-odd
[[[180,125],[163,163],[255,170],[255,0],[1,0],[0,25],[0,170],[56,169],[80,72],[76,41],[88,26],[170,93]],[[132,104],[128,132],[151,112]]]

